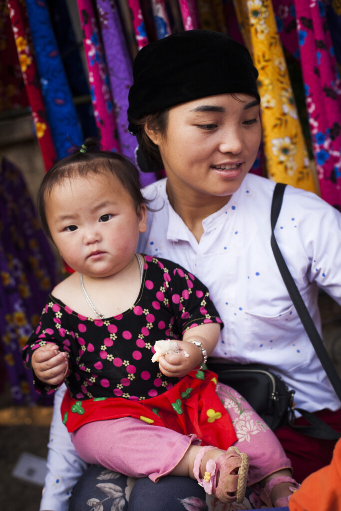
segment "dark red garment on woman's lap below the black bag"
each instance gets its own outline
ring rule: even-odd
[[[324,409],[315,412],[317,417],[324,420],[335,431],[341,432],[341,408],[336,411]],[[297,425],[307,424],[303,417],[295,421]],[[302,482],[308,475],[328,465],[333,456],[337,440],[321,440],[302,434],[290,426],[275,431],[285,454],[291,460],[293,477]]]

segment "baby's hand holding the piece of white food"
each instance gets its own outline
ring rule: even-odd
[[[158,366],[165,376],[182,378],[188,375],[194,367],[201,364],[202,354],[198,346],[187,341],[177,343],[179,353],[170,353],[160,358]]]

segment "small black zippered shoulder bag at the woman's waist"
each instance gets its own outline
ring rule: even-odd
[[[289,390],[279,376],[261,364],[209,363],[221,383],[237,390],[263,421],[275,430],[287,422],[293,407],[294,390]]]

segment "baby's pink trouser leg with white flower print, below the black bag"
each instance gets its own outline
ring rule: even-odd
[[[234,445],[249,457],[248,485],[260,482],[264,486],[278,476],[291,478],[289,458],[276,435],[255,410],[228,385],[218,383],[216,391],[233,422],[238,438]],[[289,487],[293,483],[281,482],[277,486],[271,492],[273,504],[278,498],[291,495]]]

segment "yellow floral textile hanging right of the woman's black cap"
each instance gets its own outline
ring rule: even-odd
[[[267,175],[316,192],[272,5],[269,0],[241,0],[235,9],[259,71]]]

